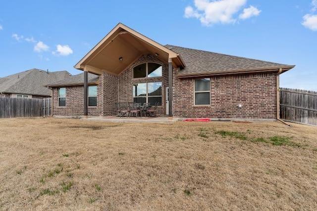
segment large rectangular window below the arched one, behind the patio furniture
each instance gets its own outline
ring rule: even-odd
[[[133,102],[162,105],[162,83],[133,84]]]

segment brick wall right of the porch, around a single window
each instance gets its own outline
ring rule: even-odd
[[[173,70],[173,116],[276,119],[276,73],[211,77],[211,105],[194,105],[194,79]],[[241,104],[242,108],[237,108]]]

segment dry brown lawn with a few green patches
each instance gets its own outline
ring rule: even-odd
[[[291,125],[1,119],[0,210],[317,210],[317,127]]]

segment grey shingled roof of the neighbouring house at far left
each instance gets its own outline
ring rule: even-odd
[[[70,77],[67,71],[48,72],[31,69],[0,79],[0,92],[51,96],[52,91],[46,84]]]

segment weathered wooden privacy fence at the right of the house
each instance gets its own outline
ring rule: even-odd
[[[280,88],[280,119],[317,126],[317,91]]]

